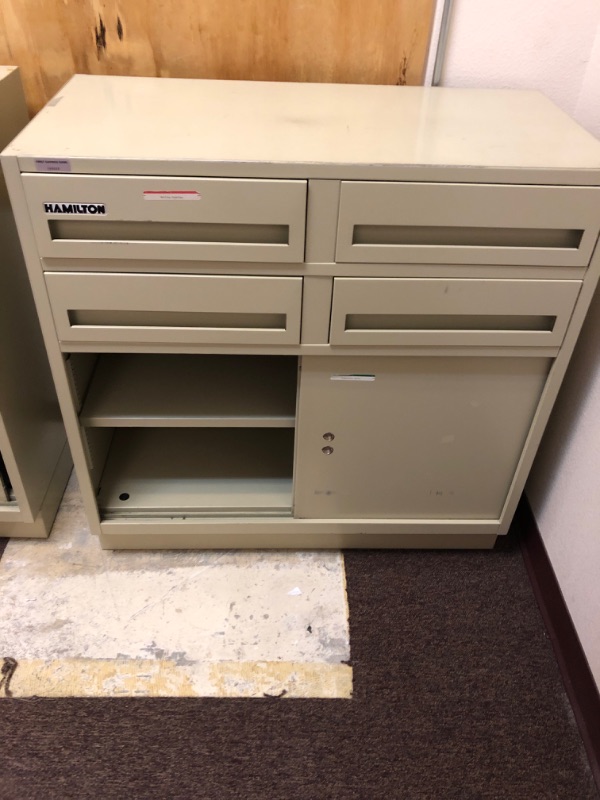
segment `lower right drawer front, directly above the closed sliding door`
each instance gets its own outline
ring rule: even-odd
[[[549,346],[581,281],[336,278],[334,345]]]

